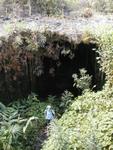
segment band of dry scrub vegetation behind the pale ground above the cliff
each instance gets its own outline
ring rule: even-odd
[[[95,12],[113,12],[112,0],[1,0],[0,5],[3,10],[1,14],[11,17],[31,16],[37,13],[48,16],[91,17]]]

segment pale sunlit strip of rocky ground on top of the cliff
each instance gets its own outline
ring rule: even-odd
[[[20,19],[10,19],[10,18],[1,18],[0,19],[0,36],[5,36],[9,34],[7,32],[6,26],[14,26],[14,30],[17,24],[24,24],[25,29],[45,31],[49,30],[51,32],[57,32],[60,35],[66,35],[71,37],[72,40],[79,42],[77,37],[81,36],[82,32],[87,29],[89,26],[92,28],[98,28],[98,26],[108,26],[113,25],[113,16],[112,15],[95,15],[90,18],[55,18],[55,17],[41,17],[41,16],[32,16],[29,18],[20,18]],[[78,35],[78,36],[76,36]]]

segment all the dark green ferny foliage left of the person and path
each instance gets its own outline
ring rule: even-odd
[[[46,105],[35,94],[9,106],[0,103],[0,150],[34,149],[39,130],[45,125]]]

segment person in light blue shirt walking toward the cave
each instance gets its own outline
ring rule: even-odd
[[[48,105],[44,111],[44,116],[46,119],[46,124],[48,125],[53,119],[55,119],[55,111],[50,105]]]

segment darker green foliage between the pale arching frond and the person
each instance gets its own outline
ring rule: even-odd
[[[32,116],[37,117],[38,120],[32,121],[33,123],[28,126],[24,139],[21,141],[23,148],[31,150],[34,148],[36,138],[39,131],[45,125],[44,109],[46,102],[40,102],[38,96],[34,93],[28,96],[27,100],[16,101],[11,104],[13,108],[16,108],[23,118],[31,118]]]

